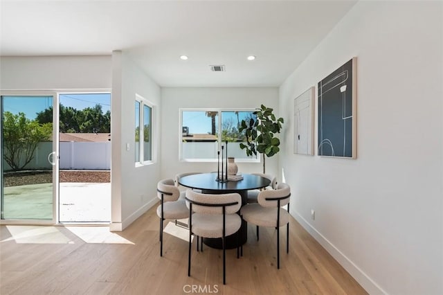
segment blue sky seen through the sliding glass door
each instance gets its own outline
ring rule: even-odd
[[[10,111],[12,114],[23,112],[26,118],[35,119],[39,111],[43,111],[53,105],[52,96],[2,96],[3,111]],[[65,107],[74,109],[84,109],[94,107],[96,104],[102,106],[103,114],[111,109],[110,93],[66,93],[60,94],[60,103]]]

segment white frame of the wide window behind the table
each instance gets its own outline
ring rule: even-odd
[[[218,130],[219,130],[219,134],[218,134],[218,138],[217,138],[217,142],[218,142],[218,150],[221,151],[221,124],[222,124],[222,120],[221,120],[221,113],[224,111],[250,111],[251,113],[253,111],[256,111],[257,109],[255,108],[221,108],[221,107],[208,107],[208,108],[204,108],[204,107],[183,107],[183,108],[179,108],[179,161],[181,162],[202,162],[202,163],[217,163],[217,159],[184,159],[183,158],[183,150],[182,150],[182,143],[183,143],[183,111],[217,111],[218,112]],[[245,152],[246,155],[246,152]],[[261,157],[260,154],[257,154],[256,156],[253,156],[255,158],[251,158],[251,159],[247,159],[247,158],[235,158],[235,162],[237,163],[261,163]]]

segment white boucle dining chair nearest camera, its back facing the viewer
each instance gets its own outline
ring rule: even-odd
[[[242,218],[237,214],[242,206],[242,197],[237,193],[212,195],[186,190],[186,205],[189,208],[188,276],[191,271],[192,234],[200,238],[221,238],[223,244],[223,284],[225,285],[226,236],[236,233],[242,226]],[[197,247],[198,243],[197,239]],[[237,246],[237,258],[239,258],[239,246]]]

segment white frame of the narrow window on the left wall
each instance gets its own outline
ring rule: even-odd
[[[143,96],[136,93],[136,102],[140,104],[139,107],[139,113],[138,113],[138,125],[139,125],[139,132],[138,132],[138,161],[135,159],[135,166],[141,167],[141,166],[147,166],[152,165],[153,163],[156,163],[156,145],[154,145],[154,142],[156,142],[156,132],[155,132],[155,110],[156,107],[154,103],[152,103],[150,100],[147,100],[146,98],[143,98]],[[145,160],[145,132],[143,131],[144,123],[145,123],[145,107],[149,107],[151,109],[151,159]],[[134,103],[134,114],[135,114],[135,103]],[[135,122],[135,120],[134,120]],[[135,132],[135,131],[134,131]],[[134,145],[137,143],[135,142],[135,134],[134,134]],[[135,151],[136,147],[134,146],[134,157],[135,157]]]

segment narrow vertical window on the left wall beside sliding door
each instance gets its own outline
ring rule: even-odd
[[[153,105],[136,96],[135,102],[135,161],[136,165],[153,161],[152,157],[152,108]]]

